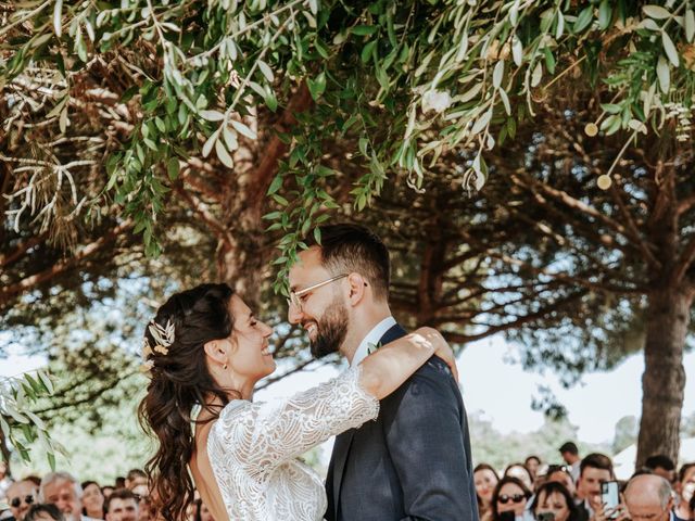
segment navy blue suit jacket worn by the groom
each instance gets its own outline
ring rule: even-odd
[[[405,334],[393,326],[380,343]],[[336,437],[326,492],[328,521],[478,521],[466,409],[441,358]]]

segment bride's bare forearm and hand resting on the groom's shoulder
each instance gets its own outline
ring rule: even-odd
[[[366,357],[361,364],[359,383],[381,399],[399,389],[432,355],[443,358],[458,379],[454,354],[444,338],[432,328],[419,328]]]

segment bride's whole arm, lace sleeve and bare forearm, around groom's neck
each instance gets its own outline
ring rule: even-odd
[[[453,360],[439,333],[419,329],[329,382],[278,402],[230,404],[213,425],[208,444],[232,452],[251,474],[270,472],[330,436],[377,418],[378,398],[395,391],[430,356],[446,352]]]

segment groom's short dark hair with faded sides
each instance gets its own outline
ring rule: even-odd
[[[375,298],[389,298],[391,260],[389,249],[369,228],[353,224],[320,226],[320,244],[314,234],[304,240],[318,246],[321,264],[332,275],[357,272],[371,284]]]

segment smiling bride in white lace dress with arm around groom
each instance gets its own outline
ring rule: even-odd
[[[185,519],[198,488],[217,520],[320,520],[324,485],[296,457],[374,420],[379,401],[433,354],[456,374],[444,339],[420,328],[327,383],[252,402],[256,382],[275,370],[270,333],[226,284],[173,295],[149,323],[152,379],[139,410],[159,440],[147,468],[164,519]]]

